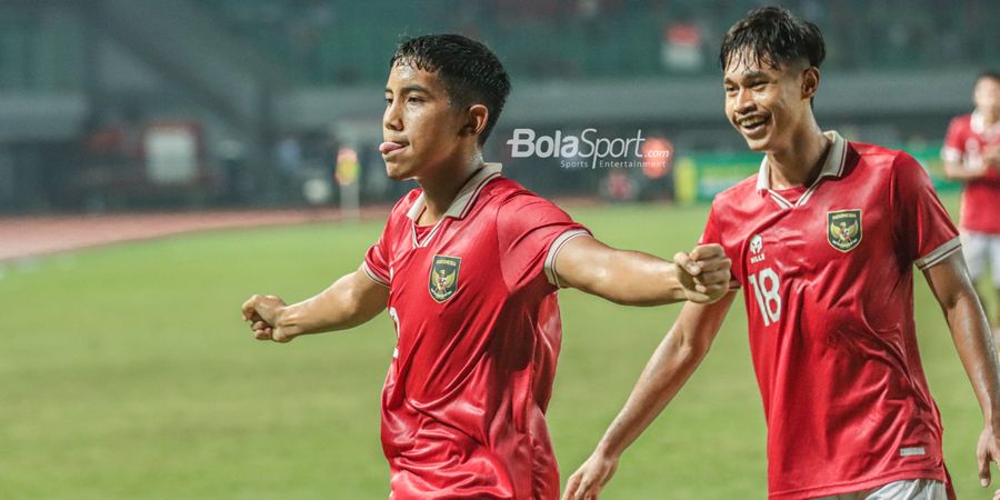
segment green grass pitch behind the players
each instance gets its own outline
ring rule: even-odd
[[[954,200],[949,199],[950,208]],[[707,207],[571,210],[610,244],[670,257]],[[357,268],[382,223],[197,233],[8,266],[0,279],[0,498],[383,499],[382,314],[290,344],[252,340],[253,292],[311,296]],[[981,416],[922,278],[920,343],[961,498],[978,486]],[[677,306],[561,292],[549,423],[563,480],[618,412]],[[760,499],[764,426],[742,301],[602,498]]]

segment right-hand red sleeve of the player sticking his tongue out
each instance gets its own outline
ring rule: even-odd
[[[570,240],[590,236],[559,207],[534,194],[519,194],[500,206],[497,233],[503,279],[511,289],[534,280],[559,287],[556,257]]]

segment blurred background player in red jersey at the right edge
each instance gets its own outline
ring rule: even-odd
[[[964,183],[959,228],[962,253],[972,281],[992,268],[991,283],[1000,292],[1000,74],[983,72],[972,91],[976,110],[948,126],[941,158],[944,173]],[[1000,307],[993,338],[1000,338]]]

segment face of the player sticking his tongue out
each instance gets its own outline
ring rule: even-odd
[[[386,111],[379,147],[390,179],[420,179],[459,160],[470,148],[462,133],[466,113],[449,102],[437,73],[397,63],[386,83]]]

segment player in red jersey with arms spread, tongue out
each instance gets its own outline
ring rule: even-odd
[[[382,392],[391,498],[557,499],[546,428],[561,341],[557,290],[653,306],[729,289],[718,244],[677,264],[609,248],[482,159],[510,89],[484,46],[403,42],[390,64],[380,147],[389,177],[420,189],[392,209],[360,268],[287,306],[253,296],[261,340],[342,330],[387,309],[398,342]]]

